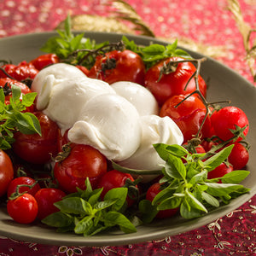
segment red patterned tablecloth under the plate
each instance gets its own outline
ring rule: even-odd
[[[53,30],[67,16],[106,15],[101,0],[1,0],[0,38]],[[218,61],[253,83],[234,15],[225,0],[127,0],[156,37],[189,38],[221,49]],[[256,27],[256,1],[239,1],[243,19]],[[0,55],[1,55],[0,49]],[[115,247],[67,247],[14,241],[0,236],[0,255],[256,255],[256,195],[223,218],[160,241]]]

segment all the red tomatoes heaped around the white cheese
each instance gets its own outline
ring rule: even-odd
[[[29,93],[31,90],[21,81],[33,79],[39,70],[58,62],[60,59],[56,55],[49,54],[38,56],[29,62],[22,61],[19,65],[3,65],[0,70],[0,86],[6,90],[5,101],[8,102],[11,96],[10,84],[20,86],[23,94]],[[195,135],[201,138],[201,144],[196,147],[197,153],[208,152],[212,146],[219,143],[234,143],[227,163],[222,163],[209,172],[208,178],[221,177],[227,172],[246,166],[248,151],[241,142],[248,131],[246,114],[236,107],[209,112],[200,96],[189,96],[189,93],[196,89],[195,79],[191,79],[196,68],[191,62],[172,57],[159,61],[146,70],[142,58],[136,53],[131,50],[113,50],[97,56],[90,70],[83,66],[77,67],[88,77],[102,79],[109,84],[130,81],[144,85],[159,103],[160,116],[169,116],[183,132],[184,144],[188,144]],[[163,68],[166,67],[169,70],[164,72]],[[201,96],[206,96],[207,84],[201,76],[198,77],[198,86]],[[43,173],[35,174],[26,170],[26,177],[17,177],[9,155],[0,151],[0,196],[8,196],[7,210],[16,222],[32,223],[36,218],[43,219],[58,211],[54,203],[77,191],[77,188],[85,189],[87,177],[93,189],[103,188],[102,198],[108,190],[126,186],[127,180],[130,185],[134,183],[130,174],[109,168],[108,160],[96,148],[70,143],[67,131],[61,134],[58,125],[47,115],[38,112],[34,107],[26,111],[31,111],[38,117],[42,136],[16,132],[12,160],[14,166],[23,166],[25,163],[25,166],[30,166],[32,170]],[[49,166],[54,158],[52,177],[42,166]],[[48,179],[47,184],[49,179],[52,179],[51,183],[55,187],[44,187],[40,180],[42,178]],[[153,201],[159,192],[160,183],[148,184],[146,199]],[[128,207],[135,202],[135,198],[127,196]],[[160,211],[156,218],[170,218],[177,210]]]

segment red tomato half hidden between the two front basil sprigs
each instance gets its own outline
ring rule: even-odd
[[[98,188],[103,188],[102,199],[104,198],[104,195],[106,195],[106,193],[110,189],[124,187],[125,181],[127,178],[129,178],[131,180],[131,182],[134,181],[134,178],[129,173],[119,172],[117,170],[111,170],[111,171],[105,173],[101,177],[101,179],[97,185]],[[131,207],[131,205],[134,203],[134,200],[131,198],[132,195],[129,196],[129,192],[130,191],[128,188],[128,195],[127,195],[126,201],[127,201],[128,207]]]

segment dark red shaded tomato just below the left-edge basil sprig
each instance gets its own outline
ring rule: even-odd
[[[34,113],[41,125],[42,136],[38,134],[15,133],[13,149],[21,159],[32,164],[44,164],[58,153],[58,125],[42,113]]]

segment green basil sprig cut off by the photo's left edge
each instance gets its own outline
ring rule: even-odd
[[[36,92],[22,95],[20,87],[12,84],[12,96],[9,104],[5,103],[3,88],[0,88],[0,148],[9,149],[14,143],[14,132],[24,134],[38,133],[41,136],[41,126],[37,117],[29,112],[22,112],[32,106]]]

